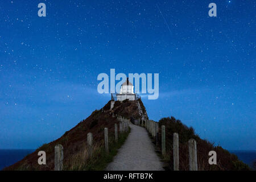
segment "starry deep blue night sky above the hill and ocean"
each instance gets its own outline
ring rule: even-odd
[[[226,149],[255,150],[255,6],[0,1],[0,148],[59,138],[110,100],[97,76],[114,68],[159,73],[159,98],[142,97],[150,119],[172,115]]]

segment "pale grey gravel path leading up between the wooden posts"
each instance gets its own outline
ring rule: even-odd
[[[130,123],[131,133],[119,149],[107,171],[162,171],[163,163],[156,155],[155,148],[146,129]]]

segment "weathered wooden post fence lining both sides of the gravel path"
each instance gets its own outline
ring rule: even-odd
[[[120,115],[112,115],[112,117],[117,117],[119,121],[119,133],[127,132],[129,130],[129,122],[130,119],[126,119]],[[162,155],[166,154],[166,128],[164,125],[161,126],[161,140],[159,140],[159,126],[158,122],[152,120],[138,120],[138,126],[145,127],[145,129],[150,133],[150,135],[154,138],[155,143],[158,144],[161,142],[161,150]],[[114,134],[115,141],[118,141],[118,125],[115,123],[114,125]],[[105,139],[105,151],[109,154],[109,137],[108,137],[108,128],[104,129],[104,139]],[[89,155],[92,155],[92,145],[93,145],[93,134],[87,134],[87,143],[89,148]],[[174,133],[173,137],[173,150],[174,150],[174,170],[179,171],[179,134]],[[188,141],[188,150],[189,150],[189,170],[197,171],[197,149],[196,149],[196,140],[189,139]],[[55,146],[55,171],[63,170],[63,146],[61,144],[57,144]]]

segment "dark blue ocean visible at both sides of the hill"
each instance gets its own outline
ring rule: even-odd
[[[0,170],[18,162],[34,151],[35,149],[0,150]],[[230,152],[236,154],[242,162],[253,168],[253,162],[256,161],[256,150],[230,150]]]

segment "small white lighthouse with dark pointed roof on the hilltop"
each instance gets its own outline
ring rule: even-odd
[[[117,100],[118,101],[123,101],[128,99],[129,101],[134,101],[136,94],[133,92],[133,84],[129,81],[129,78],[123,84],[121,85],[120,88],[120,93],[116,94],[117,95]]]

